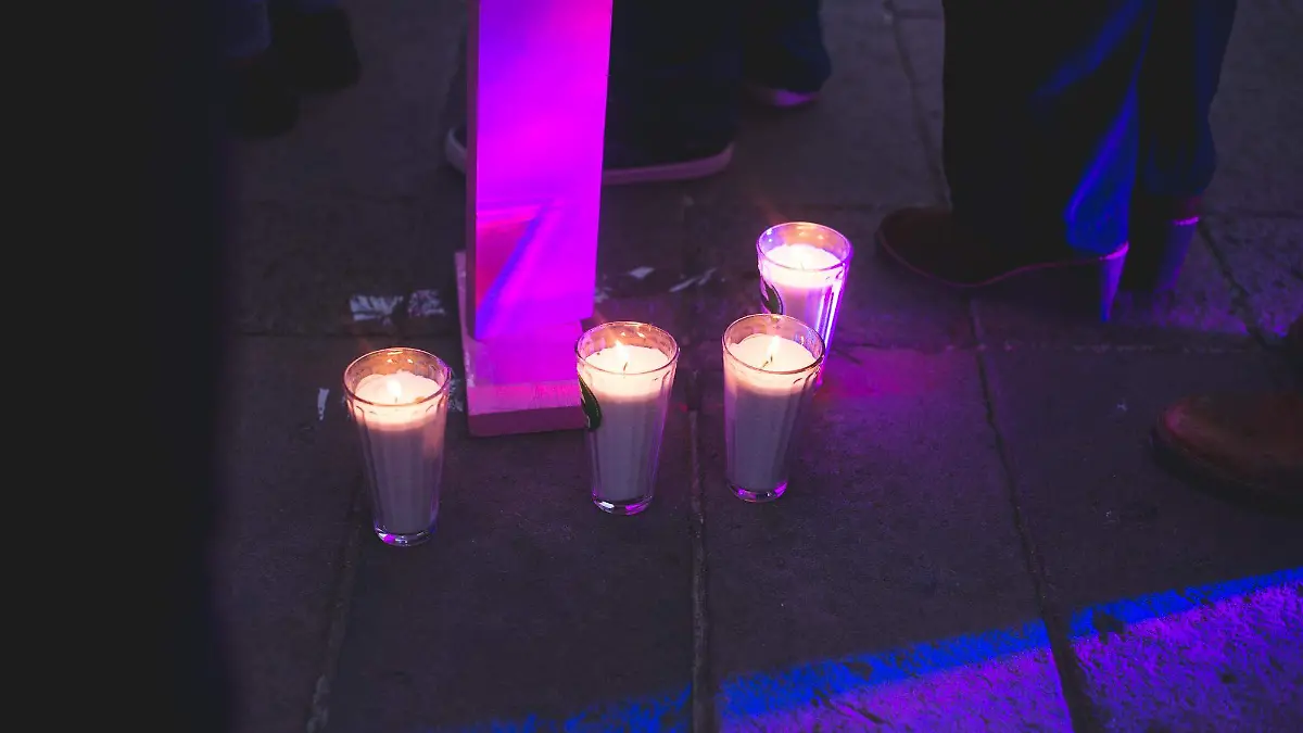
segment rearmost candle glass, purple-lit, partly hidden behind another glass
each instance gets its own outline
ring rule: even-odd
[[[822,224],[788,222],[765,230],[756,240],[765,313],[804,321],[827,348],[853,254],[851,240]]]

